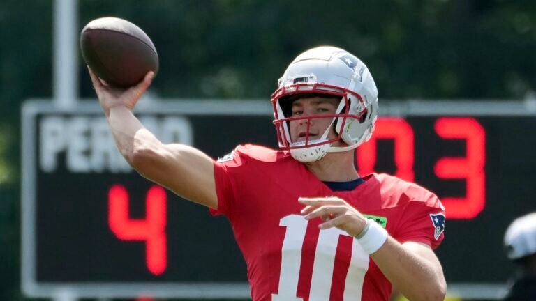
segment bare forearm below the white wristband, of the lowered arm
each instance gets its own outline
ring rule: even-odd
[[[447,285],[440,265],[410,252],[394,238],[389,236],[371,258],[409,300],[444,300]]]

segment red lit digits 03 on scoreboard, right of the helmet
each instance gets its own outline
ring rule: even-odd
[[[441,117],[435,121],[435,133],[442,139],[461,139],[466,142],[466,157],[441,157],[433,167],[441,179],[466,180],[466,196],[440,196],[449,219],[472,219],[483,209],[486,201],[485,173],[486,132],[475,118]],[[375,170],[378,139],[394,140],[395,176],[413,181],[414,133],[403,118],[378,118],[371,139],[357,149],[359,173]]]

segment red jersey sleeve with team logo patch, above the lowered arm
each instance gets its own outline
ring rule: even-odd
[[[422,242],[437,248],[445,237],[445,210],[438,197],[427,190],[417,196],[402,194],[401,197],[407,201],[403,202],[396,240]]]

